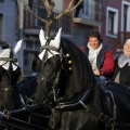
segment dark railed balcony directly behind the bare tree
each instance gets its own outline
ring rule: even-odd
[[[47,18],[47,11],[46,9],[32,9],[34,13],[42,18]],[[53,15],[57,15],[58,12],[54,12]],[[70,35],[72,34],[72,15],[67,14],[61,17],[60,20],[55,21],[53,23],[53,26],[51,27],[52,31],[57,31],[58,28],[62,27],[62,31],[64,35]],[[24,31],[25,34],[38,34],[39,29],[44,29],[44,23],[37,20],[32,14],[30,14],[27,10],[24,10]]]

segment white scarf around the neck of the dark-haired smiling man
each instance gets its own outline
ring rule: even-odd
[[[98,49],[92,49],[88,43],[88,48],[89,48],[88,58],[90,61],[90,64],[92,65],[92,69],[96,69],[96,57],[98,57],[101,49],[103,48],[103,44],[101,43]]]

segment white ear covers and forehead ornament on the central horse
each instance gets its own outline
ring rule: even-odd
[[[60,48],[61,31],[62,31],[62,28],[58,29],[58,32],[57,32],[57,35],[55,36],[54,40],[51,40],[51,41],[50,41],[50,44],[49,44],[50,47],[54,47],[54,48],[56,48],[56,49]],[[46,46],[47,40],[46,40],[46,38],[44,38],[44,31],[43,31],[42,29],[40,30],[39,39],[40,39],[41,47],[42,47],[42,46]],[[51,51],[51,53],[48,51],[48,58],[52,57],[53,55],[60,54],[60,53],[56,52],[56,51],[53,51],[53,50],[50,50],[50,51]],[[42,60],[44,53],[46,53],[46,50],[43,50],[43,51],[39,54],[39,58],[40,58],[40,60]],[[47,58],[47,60],[48,60],[48,58]]]

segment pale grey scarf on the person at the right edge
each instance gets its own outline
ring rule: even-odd
[[[119,67],[122,68],[127,63],[130,66],[130,56],[125,56],[121,54],[118,58]]]

